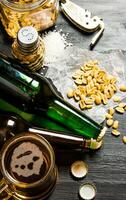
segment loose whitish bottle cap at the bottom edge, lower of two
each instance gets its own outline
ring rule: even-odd
[[[84,200],[92,200],[96,196],[96,187],[94,183],[83,183],[79,188],[79,196]]]

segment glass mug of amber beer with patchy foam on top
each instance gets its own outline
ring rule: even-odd
[[[8,140],[1,151],[0,199],[42,200],[57,180],[55,156],[42,136],[23,133]]]

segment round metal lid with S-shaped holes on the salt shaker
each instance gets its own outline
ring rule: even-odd
[[[25,26],[18,32],[18,43],[24,48],[30,48],[34,46],[38,41],[38,32],[32,26]]]

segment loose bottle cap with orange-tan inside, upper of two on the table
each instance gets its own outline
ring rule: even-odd
[[[84,161],[75,161],[71,165],[71,174],[75,178],[83,178],[87,175],[88,172],[88,165]]]

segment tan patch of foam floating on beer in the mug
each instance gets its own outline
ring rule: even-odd
[[[13,151],[10,167],[18,176],[40,175],[43,153],[36,144],[23,142]]]

